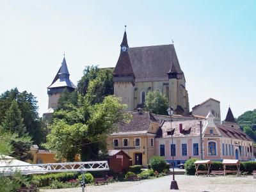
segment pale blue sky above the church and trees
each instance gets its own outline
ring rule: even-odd
[[[75,84],[85,65],[115,67],[125,24],[130,47],[174,40],[190,108],[256,108],[256,1],[0,0],[0,93],[32,92],[42,115],[63,52]]]

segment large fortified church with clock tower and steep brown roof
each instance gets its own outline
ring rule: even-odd
[[[113,83],[128,111],[143,108],[148,92],[157,91],[167,97],[174,114],[189,113],[186,80],[173,44],[130,48],[125,31]]]

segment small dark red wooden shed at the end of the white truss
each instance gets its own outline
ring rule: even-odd
[[[108,154],[108,165],[111,171],[119,173],[132,166],[132,158],[123,150],[109,150]]]

